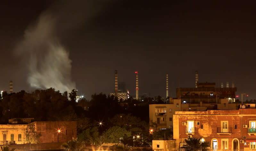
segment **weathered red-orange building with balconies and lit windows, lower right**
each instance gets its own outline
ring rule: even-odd
[[[173,131],[177,148],[194,137],[216,150],[256,149],[256,109],[176,111]]]

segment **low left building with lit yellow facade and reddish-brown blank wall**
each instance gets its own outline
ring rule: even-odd
[[[76,121],[40,121],[31,122],[32,118],[10,119],[10,124],[0,125],[0,145],[26,144],[26,128],[34,124],[37,133],[41,133],[40,142],[67,142],[76,138]]]

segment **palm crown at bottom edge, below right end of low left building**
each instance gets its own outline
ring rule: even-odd
[[[67,143],[63,143],[61,145],[61,148],[66,151],[88,151],[88,149],[85,147],[84,142],[78,141],[77,138],[73,138]]]

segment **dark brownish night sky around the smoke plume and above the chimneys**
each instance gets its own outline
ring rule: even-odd
[[[255,1],[5,1],[0,5],[0,89],[32,91],[26,59],[15,53],[24,31],[45,11],[58,18],[54,36],[69,52],[78,94],[114,91],[169,96],[199,82],[235,83],[239,99],[256,99]],[[25,53],[26,54],[26,53]],[[23,59],[22,59],[23,58]],[[29,56],[25,57],[29,60]],[[42,62],[43,63],[43,62]],[[54,66],[54,65],[53,65]],[[247,99],[247,98],[246,98]]]

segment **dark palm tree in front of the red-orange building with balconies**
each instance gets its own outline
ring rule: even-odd
[[[186,141],[185,150],[186,151],[207,151],[210,147],[210,142],[204,141],[200,142],[201,138],[188,138]]]

